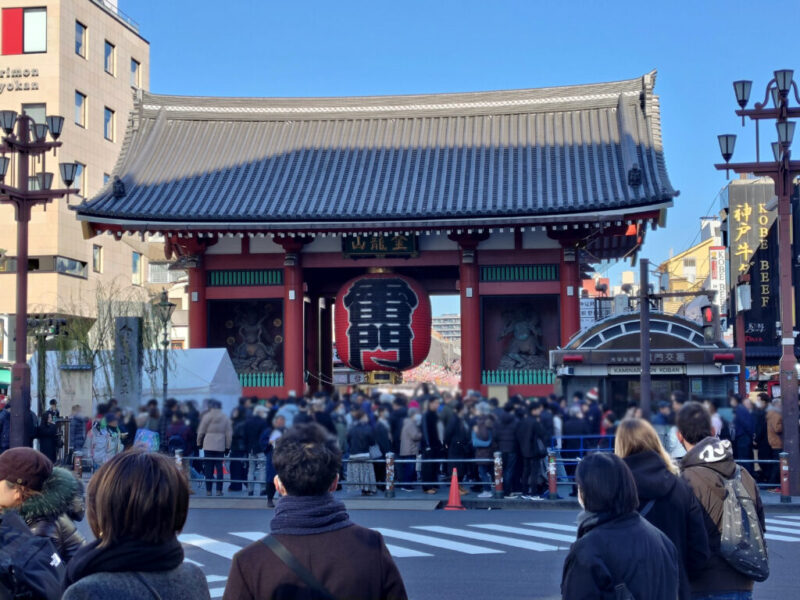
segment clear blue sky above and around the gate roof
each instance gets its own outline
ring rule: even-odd
[[[460,92],[613,81],[658,70],[667,168],[681,195],[642,256],[686,249],[719,211],[717,134],[754,131],[731,82],[761,101],[775,69],[800,79],[800,1],[120,0],[150,41],[150,89],[209,96]],[[764,129],[762,157],[776,138]],[[799,136],[800,137],[800,136]],[[800,143],[800,140],[798,140]],[[612,279],[625,265],[610,270]],[[458,304],[435,302],[434,312]]]

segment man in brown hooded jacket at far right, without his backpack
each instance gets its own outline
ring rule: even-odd
[[[765,530],[764,508],[756,482],[750,473],[733,461],[731,444],[712,435],[711,417],[697,402],[687,402],[677,417],[678,438],[686,447],[681,461],[681,477],[691,486],[705,512],[711,556],[702,572],[689,580],[693,598],[702,600],[750,600],[753,580],[737,571],[723,557],[720,549],[725,481],[740,476],[753,501],[756,514]],[[737,434],[738,435],[738,434]]]

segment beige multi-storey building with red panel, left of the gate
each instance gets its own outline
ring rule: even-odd
[[[63,187],[59,162],[82,165],[73,186],[80,189],[78,196],[33,211],[28,311],[92,315],[98,286],[124,290],[126,296],[141,288],[147,297],[148,244],[133,237],[122,243],[111,236],[85,239],[70,205],[113,183],[109,174],[134,94],[149,88],[148,41],[113,0],[4,0],[2,19],[0,109],[25,111],[37,122],[46,114],[65,118],[63,146],[57,156],[45,158],[53,187]],[[15,170],[12,163],[8,176],[18,185]],[[0,248],[6,258],[0,260],[0,315],[16,311],[16,243],[12,209],[2,206]],[[11,346],[3,344],[0,360],[11,359]]]

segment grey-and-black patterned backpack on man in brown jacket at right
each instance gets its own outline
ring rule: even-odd
[[[754,581],[769,577],[769,559],[764,532],[756,506],[742,483],[738,465],[731,479],[724,479],[725,501],[722,505],[720,554],[726,562]]]

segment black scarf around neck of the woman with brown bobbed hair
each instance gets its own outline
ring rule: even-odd
[[[122,540],[100,548],[100,540],[83,546],[67,565],[64,589],[93,573],[171,571],[183,563],[183,546],[174,537],[163,544]]]

